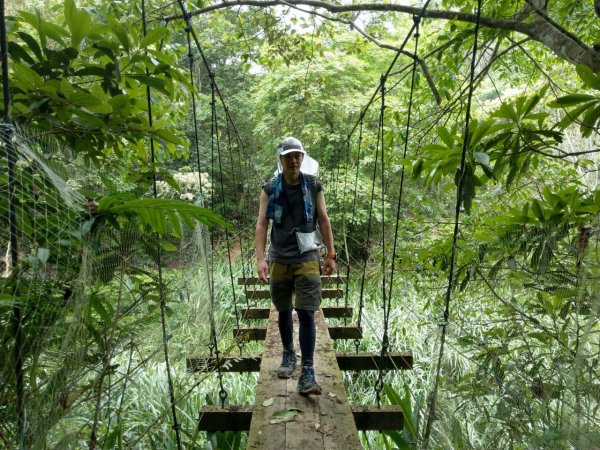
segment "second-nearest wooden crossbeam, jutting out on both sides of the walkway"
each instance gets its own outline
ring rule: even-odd
[[[336,361],[340,370],[404,370],[412,369],[411,352],[392,352],[385,358],[379,353],[336,353]],[[258,354],[249,356],[222,356],[222,372],[259,372],[262,357]],[[215,358],[190,355],[186,359],[190,372],[212,372],[216,370]]]

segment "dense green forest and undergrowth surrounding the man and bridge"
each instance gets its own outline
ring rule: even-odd
[[[417,361],[386,376],[413,414],[365,448],[599,445],[600,2],[4,6],[4,446],[243,445],[196,419],[252,383],[185,355],[256,350],[230,278],[288,135],[321,165],[361,349],[385,330]]]

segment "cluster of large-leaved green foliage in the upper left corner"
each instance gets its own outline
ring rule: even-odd
[[[178,86],[186,86],[187,77],[178,67],[175,47],[160,42],[169,31],[155,28],[142,38],[141,31],[127,31],[112,17],[113,8],[124,16],[135,12],[122,3],[78,8],[67,0],[60,24],[39,11],[12,18],[13,118],[54,135],[96,163],[127,157],[145,164],[148,137],[168,155],[178,155],[184,141],[169,125],[183,112],[173,106],[183,106]],[[153,126],[147,117],[147,87],[153,92]]]

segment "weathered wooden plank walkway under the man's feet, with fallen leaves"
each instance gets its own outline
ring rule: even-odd
[[[298,322],[294,313],[296,349]],[[315,313],[317,342],[315,375],[323,388],[320,396],[301,396],[296,392],[299,369],[288,380],[275,373],[281,362],[281,339],[277,314],[271,310],[267,325],[265,349],[256,388],[255,406],[248,436],[248,450],[339,449],[359,450],[358,430],[348,404],[344,384],[321,311]],[[272,402],[272,403],[271,403]],[[298,409],[293,421],[271,424],[277,411]]]

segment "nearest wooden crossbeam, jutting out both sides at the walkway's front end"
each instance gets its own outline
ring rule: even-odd
[[[200,412],[200,431],[248,431],[252,420],[252,406],[203,406]],[[357,430],[401,430],[404,427],[402,408],[395,405],[352,406]],[[342,447],[343,448],[343,447]]]

